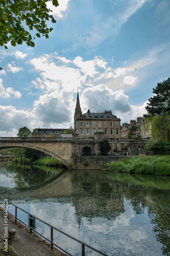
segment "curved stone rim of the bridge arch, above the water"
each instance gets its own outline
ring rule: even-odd
[[[64,164],[67,168],[70,167],[70,163],[68,163],[66,160],[61,158],[58,154],[56,154],[56,153],[54,153],[50,150],[47,150],[46,148],[43,148],[41,146],[33,145],[33,144],[30,144],[30,143],[3,143],[3,144],[0,144],[0,149],[12,148],[12,147],[31,148],[32,150],[37,150],[37,151],[43,152],[43,153],[45,153],[49,156],[52,156],[52,157],[56,158],[62,164]]]

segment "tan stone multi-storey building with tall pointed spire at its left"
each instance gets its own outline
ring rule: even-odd
[[[75,133],[82,138],[94,136],[96,132],[104,132],[105,136],[110,138],[120,138],[120,118],[117,118],[111,111],[103,113],[82,114],[80,108],[79,93],[77,94],[77,103],[75,109]]]

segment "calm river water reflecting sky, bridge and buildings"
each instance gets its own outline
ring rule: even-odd
[[[1,162],[0,193],[108,255],[170,255],[170,177]],[[18,217],[28,222],[27,214]],[[36,230],[50,239],[44,224],[36,222]],[[54,242],[81,255],[81,246],[57,231]],[[99,254],[86,249],[86,255]]]

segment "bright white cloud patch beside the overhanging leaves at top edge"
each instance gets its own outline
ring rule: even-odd
[[[47,8],[50,8],[52,10],[52,15],[57,16],[58,18],[63,17],[63,12],[66,11],[68,8],[68,2],[69,0],[58,0],[59,6],[55,7],[52,3],[52,1],[47,2]]]

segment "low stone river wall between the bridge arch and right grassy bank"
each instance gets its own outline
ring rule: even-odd
[[[120,161],[127,156],[99,156],[99,157],[71,157],[71,166],[69,169],[102,169],[105,163],[111,161]],[[88,165],[85,165],[88,163]]]

